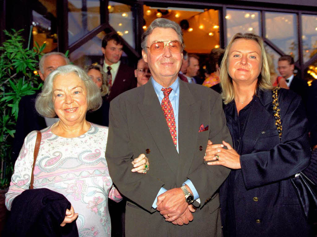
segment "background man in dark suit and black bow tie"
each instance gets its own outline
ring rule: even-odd
[[[299,94],[304,103],[306,102],[307,83],[299,75],[294,75],[294,58],[290,55],[281,56],[278,59],[278,71],[285,78],[286,84],[290,90]]]

